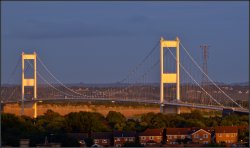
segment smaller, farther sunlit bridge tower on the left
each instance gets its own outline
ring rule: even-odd
[[[26,79],[24,77],[25,73],[24,73],[24,62],[25,60],[34,60],[34,77],[33,78],[28,78]],[[34,100],[36,100],[37,98],[37,79],[36,79],[36,52],[34,52],[33,54],[25,54],[24,52],[22,52],[22,114],[24,114],[24,88],[26,86],[32,86],[34,88]],[[37,117],[37,103],[35,102],[32,106],[32,108],[34,109],[34,114],[33,117],[36,118]]]

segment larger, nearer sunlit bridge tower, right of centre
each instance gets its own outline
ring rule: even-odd
[[[176,40],[164,40],[161,37],[160,40],[160,111],[164,112],[164,84],[176,84],[176,100],[180,100],[180,53],[179,53],[179,44],[180,40],[176,37]],[[164,73],[164,48],[176,48],[176,73]],[[171,106],[168,106],[171,107]],[[180,114],[180,109],[178,107],[176,109],[176,113]]]

